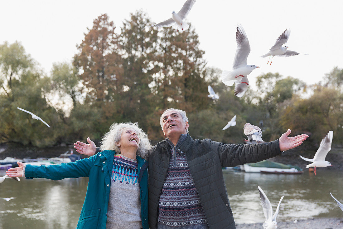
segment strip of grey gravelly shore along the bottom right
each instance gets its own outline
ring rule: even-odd
[[[343,212],[342,212],[343,215]],[[247,223],[236,225],[237,229],[263,228],[263,223]],[[335,218],[318,218],[297,220],[296,222],[277,222],[277,229],[341,229],[343,220]]]

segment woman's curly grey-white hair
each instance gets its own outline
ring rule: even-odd
[[[143,159],[147,159],[147,157],[149,156],[151,143],[148,139],[148,135],[141,128],[139,128],[138,122],[114,123],[112,126],[110,126],[109,132],[105,133],[103,139],[101,140],[100,150],[114,150],[117,153],[120,153],[120,149],[116,145],[116,143],[120,141],[121,133],[126,127],[132,128],[137,132],[137,135],[140,139],[137,149],[137,155],[142,157]]]

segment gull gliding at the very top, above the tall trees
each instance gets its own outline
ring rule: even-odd
[[[187,15],[191,11],[195,2],[196,0],[187,0],[184,6],[181,8],[181,10],[178,13],[175,13],[175,11],[171,12],[172,14],[171,18],[163,22],[150,25],[149,27],[161,28],[161,27],[171,26],[174,29],[177,29],[177,31],[179,31],[179,28],[181,28],[181,31],[187,30],[189,28],[189,24],[184,22],[184,20],[186,19]]]

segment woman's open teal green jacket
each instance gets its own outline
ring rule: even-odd
[[[58,165],[37,166],[27,164],[25,177],[41,177],[52,180],[89,177],[87,193],[81,210],[78,226],[82,229],[105,229],[107,205],[111,185],[113,158],[116,152],[105,150],[90,158]],[[138,182],[141,193],[141,217],[143,229],[148,223],[148,162],[137,156]],[[128,193],[128,195],[130,195]]]

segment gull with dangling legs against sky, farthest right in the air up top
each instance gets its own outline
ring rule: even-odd
[[[282,46],[283,44],[287,43],[289,35],[291,35],[291,30],[286,29],[279,36],[279,38],[276,39],[275,44],[270,48],[269,52],[267,54],[261,56],[261,57],[269,56],[268,63],[270,61],[270,57],[272,57],[272,60],[270,61],[270,64],[272,64],[274,56],[288,57],[288,56],[295,56],[295,55],[301,54],[301,53],[297,53],[295,51],[287,50],[287,48],[288,48],[287,45]]]

